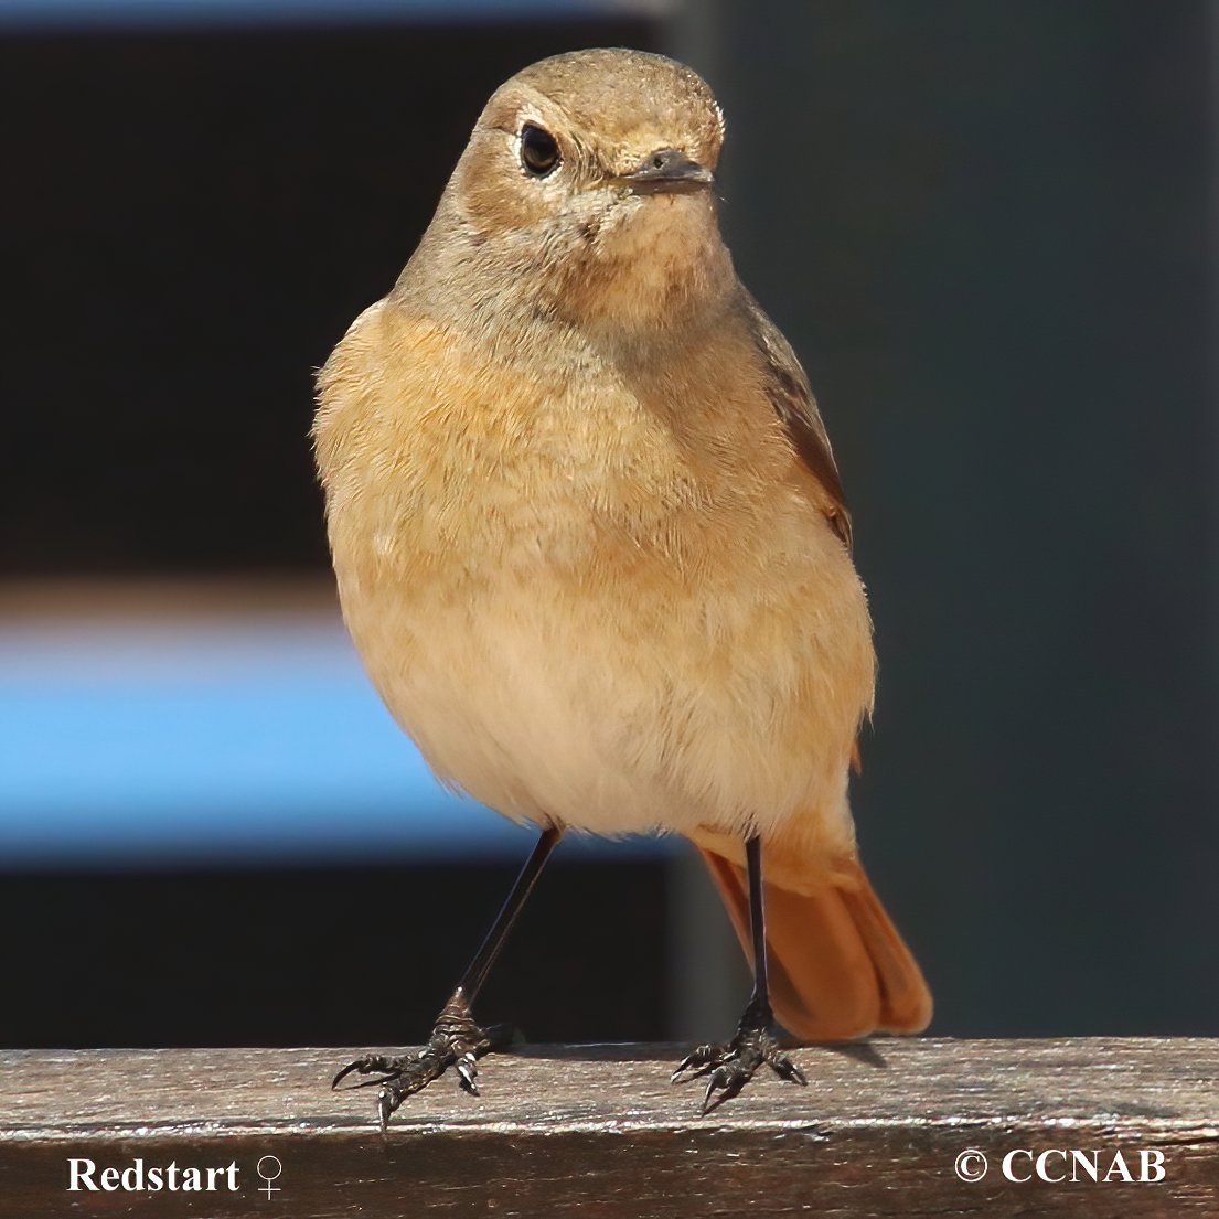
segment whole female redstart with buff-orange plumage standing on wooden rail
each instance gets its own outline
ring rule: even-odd
[[[718,221],[724,118],[629,49],[490,98],[393,290],[317,374],[347,629],[435,775],[538,844],[422,1051],[368,1054],[382,1126],[497,1047],[478,992],[562,835],[703,856],[753,969],[695,1047],[703,1112],[784,1046],[917,1032],[926,983],[848,801],[875,651],[808,379]],[[777,189],[781,185],[775,182]]]

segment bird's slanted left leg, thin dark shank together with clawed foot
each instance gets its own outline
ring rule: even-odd
[[[367,1054],[347,1063],[330,1084],[338,1087],[347,1075],[375,1075],[362,1080],[356,1087],[377,1087],[377,1112],[382,1129],[389,1125],[390,1114],[408,1097],[422,1091],[434,1079],[439,1079],[450,1067],[455,1068],[463,1091],[478,1096],[478,1059],[492,1050],[502,1050],[512,1041],[507,1025],[483,1029],[474,1023],[471,1003],[486,981],[486,975],[507,941],[508,933],[524,907],[525,900],[541,874],[542,865],[562,837],[562,829],[547,828],[538,839],[538,845],[521,869],[512,891],[508,894],[495,923],[482,946],[462,975],[452,997],[436,1017],[435,1028],[428,1043],[418,1053],[386,1057]]]

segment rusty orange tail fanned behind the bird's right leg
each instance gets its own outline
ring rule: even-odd
[[[748,878],[700,846],[752,961]],[[766,873],[766,844],[762,851]],[[868,1032],[919,1032],[931,1019],[931,992],[857,859],[834,875],[801,880],[790,869],[764,879],[770,1003],[779,1023],[806,1041],[845,1041]]]

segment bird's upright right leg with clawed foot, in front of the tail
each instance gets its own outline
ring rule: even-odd
[[[737,1092],[766,1063],[780,1079],[807,1084],[805,1073],[779,1048],[767,981],[766,919],[762,908],[762,841],[746,840],[750,874],[750,930],[753,936],[753,993],[731,1041],[696,1047],[673,1073],[673,1081],[707,1078],[702,1112],[709,1113]],[[686,1072],[690,1074],[688,1075]]]

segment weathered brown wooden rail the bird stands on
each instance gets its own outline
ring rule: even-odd
[[[482,1097],[442,1079],[382,1135],[373,1091],[327,1090],[350,1051],[0,1052],[0,1215],[1219,1217],[1219,1040],[803,1050],[807,1089],[759,1079],[707,1118],[668,1082],[679,1053],[495,1056]],[[990,1168],[968,1184],[972,1148]],[[1098,1151],[1102,1175],[1120,1151],[1136,1176],[1159,1152],[1164,1179],[1007,1181],[1020,1148]],[[240,1192],[68,1192],[69,1158],[235,1163]]]

